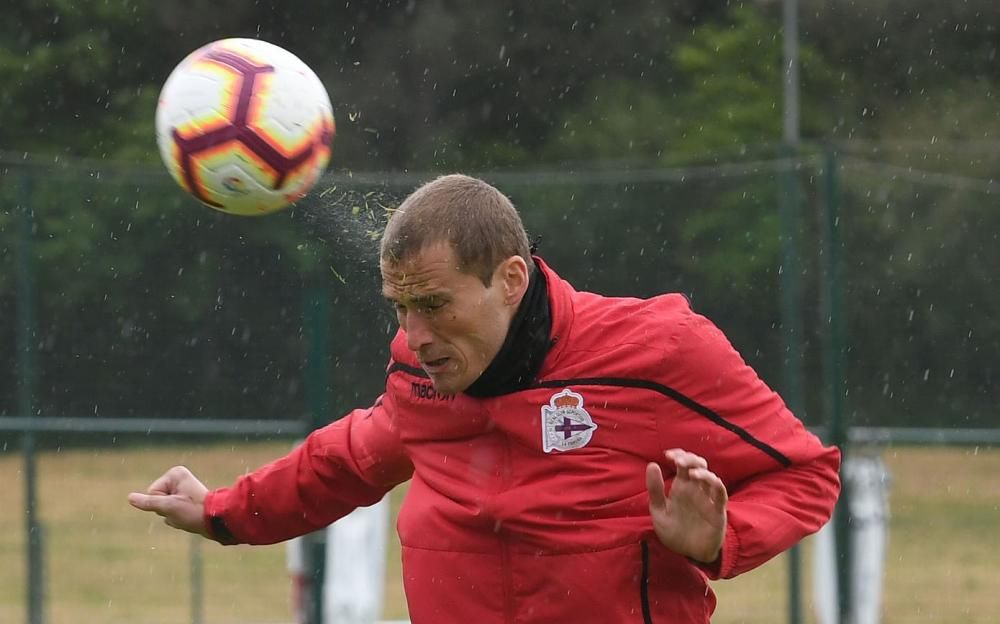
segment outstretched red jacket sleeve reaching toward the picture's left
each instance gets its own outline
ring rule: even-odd
[[[413,467],[383,395],[367,410],[317,429],[291,453],[205,499],[209,533],[223,544],[273,544],[372,505]]]

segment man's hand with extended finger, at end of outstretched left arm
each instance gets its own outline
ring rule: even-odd
[[[152,511],[167,525],[208,537],[205,527],[205,495],[208,488],[184,466],[174,466],[153,481],[145,494],[132,492],[128,502],[136,509]]]

